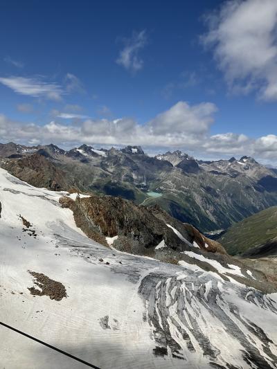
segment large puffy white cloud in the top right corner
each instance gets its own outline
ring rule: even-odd
[[[276,100],[277,1],[225,1],[206,21],[202,42],[213,48],[230,90]]]

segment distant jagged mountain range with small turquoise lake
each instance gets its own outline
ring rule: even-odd
[[[44,159],[38,160],[37,155]],[[96,150],[82,145],[65,151],[55,145],[9,143],[0,146],[0,163],[35,186],[120,196],[145,206],[158,204],[202,232],[229,228],[277,204],[276,172],[246,156],[197,161],[179,151],[150,157],[141,147],[131,146]]]

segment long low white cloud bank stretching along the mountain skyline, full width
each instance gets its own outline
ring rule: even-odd
[[[15,122],[0,115],[0,136],[4,142],[53,142],[67,147],[82,143],[105,147],[141,145],[152,153],[179,149],[204,159],[250,155],[277,165],[276,135],[256,139],[231,132],[211,135],[216,111],[217,107],[211,102],[189,105],[181,101],[143,125],[132,118],[80,118],[77,125],[52,120],[46,125],[37,125]],[[54,115],[62,114],[57,111]],[[71,119],[76,118],[73,115]],[[69,118],[69,114],[64,118]]]

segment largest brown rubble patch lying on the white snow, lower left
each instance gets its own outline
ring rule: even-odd
[[[61,282],[52,280],[42,273],[36,273],[35,271],[28,271],[31,276],[35,278],[34,284],[39,287],[29,287],[30,294],[36,296],[49,296],[51,300],[60,301],[62,298],[66,298],[66,289]]]

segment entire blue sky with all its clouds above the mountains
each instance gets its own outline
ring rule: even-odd
[[[0,4],[0,142],[277,165],[277,1]]]

